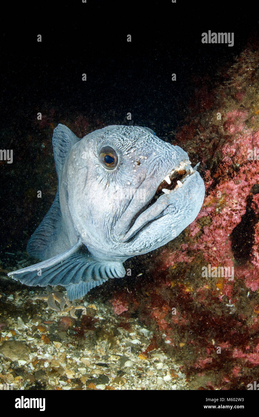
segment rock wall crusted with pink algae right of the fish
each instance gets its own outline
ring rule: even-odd
[[[182,360],[191,388],[247,389],[259,372],[258,91],[255,43],[216,87],[196,90],[172,142],[200,161],[201,211],[152,262],[143,261],[152,282],[144,274],[113,296],[115,309],[123,299],[127,315],[157,327],[161,349]]]

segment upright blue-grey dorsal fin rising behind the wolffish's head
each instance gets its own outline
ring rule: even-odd
[[[70,149],[78,141],[80,139],[67,126],[59,123],[54,129],[52,145],[58,178]]]

